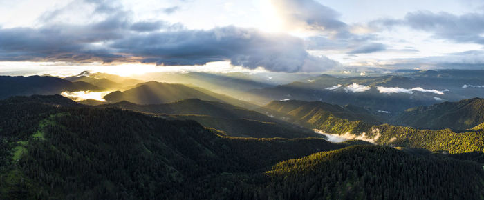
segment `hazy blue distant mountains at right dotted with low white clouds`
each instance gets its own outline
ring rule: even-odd
[[[462,71],[438,70],[378,77],[322,74],[308,81],[256,88],[250,93],[262,104],[283,99],[324,101],[369,107],[395,116],[408,108],[484,97],[484,78],[478,76],[484,70]],[[454,72],[456,75],[452,75]]]

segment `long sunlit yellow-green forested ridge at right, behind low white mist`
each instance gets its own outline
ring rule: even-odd
[[[283,107],[286,101],[279,101],[279,106]],[[290,117],[289,121],[322,130],[328,133],[345,134],[351,133],[357,136],[365,134],[376,140],[376,143],[389,146],[404,146],[409,148],[425,148],[431,151],[446,150],[452,154],[465,152],[484,152],[484,132],[452,132],[450,129],[443,130],[420,130],[406,126],[391,126],[389,124],[371,125],[364,121],[350,121],[336,117],[329,110],[324,110],[315,106],[313,110],[308,108],[295,107],[293,103],[288,102],[288,108],[285,116]],[[306,104],[301,103],[303,106]],[[265,108],[272,108],[271,105]],[[281,110],[278,108],[277,110]],[[307,110],[307,112],[299,112]],[[295,115],[294,113],[299,114]],[[282,115],[284,116],[284,115]],[[339,114],[339,116],[341,116]]]

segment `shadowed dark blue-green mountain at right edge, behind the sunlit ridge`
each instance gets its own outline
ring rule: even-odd
[[[484,99],[465,99],[432,106],[409,108],[395,117],[395,123],[416,128],[466,130],[484,123]]]

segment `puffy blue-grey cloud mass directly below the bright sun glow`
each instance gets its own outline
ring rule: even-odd
[[[158,65],[201,65],[230,60],[234,66],[251,69],[262,66],[277,72],[321,71],[337,65],[335,61],[322,60],[317,66],[297,37],[234,26],[133,34],[115,41],[111,48]]]

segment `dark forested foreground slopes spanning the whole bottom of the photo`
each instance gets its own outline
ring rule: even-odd
[[[0,108],[1,199],[484,197],[482,165],[465,155],[227,137],[195,121],[58,95],[15,97]]]

